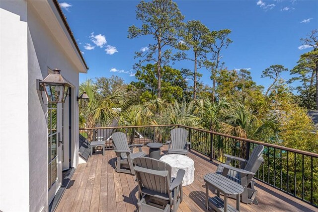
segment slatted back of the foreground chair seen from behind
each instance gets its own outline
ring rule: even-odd
[[[134,159],[134,164],[154,170],[153,173],[141,173],[135,170],[140,189],[146,188],[161,194],[169,194],[171,179],[171,166],[169,164],[149,157],[137,157]],[[156,171],[167,171],[168,175],[166,177],[158,176]]]

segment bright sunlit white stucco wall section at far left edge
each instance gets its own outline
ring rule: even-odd
[[[27,2],[0,0],[0,211],[29,210]]]

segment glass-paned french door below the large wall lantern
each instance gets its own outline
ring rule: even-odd
[[[48,105],[48,191],[49,204],[62,185],[63,105]]]

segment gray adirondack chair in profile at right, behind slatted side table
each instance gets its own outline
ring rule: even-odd
[[[242,203],[258,205],[256,199],[257,191],[254,188],[255,181],[253,177],[264,162],[263,150],[263,145],[259,144],[255,146],[248,160],[225,154],[224,156],[227,158],[226,163],[221,163],[217,168],[216,173],[222,174],[243,186],[244,191],[241,194]],[[232,160],[239,161],[240,167],[231,166],[230,163]],[[236,197],[233,196],[233,198]]]

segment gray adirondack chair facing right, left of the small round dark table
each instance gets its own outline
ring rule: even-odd
[[[128,145],[127,136],[124,133],[116,132],[113,134],[113,146],[116,152],[116,172],[124,172],[134,175],[133,159],[146,156],[141,147],[143,144]],[[139,152],[133,153],[134,147],[139,147]]]

